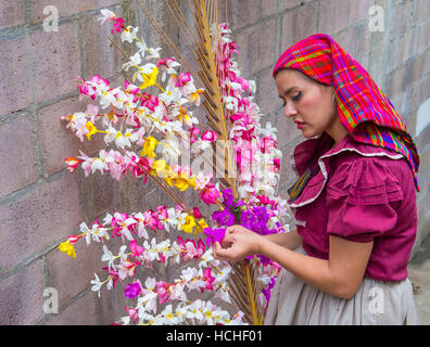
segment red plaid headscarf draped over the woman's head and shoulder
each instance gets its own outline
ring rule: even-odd
[[[330,36],[312,35],[290,47],[276,63],[274,77],[284,68],[299,69],[314,80],[333,86],[339,117],[354,140],[406,157],[419,191],[419,156],[401,116],[366,69]]]

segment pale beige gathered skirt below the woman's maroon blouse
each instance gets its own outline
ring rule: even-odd
[[[295,252],[305,254],[302,247]],[[364,278],[351,299],[317,290],[282,269],[271,291],[265,325],[418,325],[408,279]]]

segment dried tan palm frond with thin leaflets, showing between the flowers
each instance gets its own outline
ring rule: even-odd
[[[220,37],[219,33],[219,12],[217,0],[187,0],[188,10],[192,16],[192,23],[187,20],[187,14],[181,10],[177,0],[164,0],[168,11],[174,17],[181,37],[187,42],[191,54],[199,66],[195,73],[191,68],[191,63],[184,59],[179,48],[152,17],[150,11],[141,0],[137,0],[138,5],[143,10],[155,30],[165,40],[167,46],[177,55],[178,61],[198,79],[204,88],[204,102],[202,106],[205,111],[205,118],[212,130],[218,133],[218,144],[225,144],[225,163],[224,163],[224,185],[231,188],[235,197],[238,197],[236,180],[232,172],[231,150],[228,146],[228,111],[222,102],[224,85],[223,69],[219,62],[216,61],[214,42]],[[213,33],[211,33],[213,28]],[[211,35],[212,34],[212,35]],[[219,169],[219,168],[217,168]],[[175,196],[176,197],[176,196]],[[218,205],[222,207],[220,205]],[[253,261],[243,260],[232,265],[233,273],[230,277],[230,297],[239,310],[244,312],[244,321],[257,325],[262,323],[263,314],[258,311],[256,305],[257,285],[255,282],[256,265]]]

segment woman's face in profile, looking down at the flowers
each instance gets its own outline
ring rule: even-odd
[[[292,118],[305,138],[326,131],[332,136],[340,123],[333,88],[321,86],[294,69],[282,69],[275,77],[279,98],[283,101],[284,115]]]

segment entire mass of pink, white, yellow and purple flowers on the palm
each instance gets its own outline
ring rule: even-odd
[[[175,57],[163,59],[160,48],[150,48],[139,39],[138,27],[126,26],[109,10],[101,13],[101,24],[112,22],[112,34],[119,33],[123,43],[136,46],[136,53],[123,65],[124,70],[131,73],[131,80],[114,87],[99,75],[88,80],[78,77],[80,98],[90,103],[85,112],[62,119],[80,141],[101,134],[106,147],[97,157],[81,151],[77,157],[67,157],[68,170],[75,172],[80,167],[86,177],[100,172],[117,181],[129,174],[143,183],[150,178],[176,204],[132,214],[114,210],[90,227],[81,222],[80,234],[67,236],[59,249],[76,257],[74,245],[79,240],[102,243],[105,275],[100,280],[94,273],[92,291],[100,295],[103,287],[110,291],[118,283],[124,285],[124,295],[132,304],[127,305],[128,314],[119,324],[243,324],[243,312],[230,317],[210,300],[190,301],[187,293],[210,291],[213,297],[231,303],[232,268],[214,259],[210,246],[223,240],[228,226],[241,224],[262,235],[288,231],[286,202],[276,195],[281,152],[277,149],[276,130],[269,123],[266,127],[261,125],[262,115],[253,102],[255,83],[240,75],[233,59],[237,47],[229,37],[228,25],[212,27],[220,100],[227,110],[227,140],[236,154],[236,194],[225,182],[216,181],[214,171],[201,169],[200,164],[214,168],[207,153],[218,141],[218,133],[193,116],[192,110],[201,106],[205,91],[197,87],[189,72],[181,72]],[[190,157],[199,165],[187,162]],[[190,208],[181,200],[178,191],[188,189],[205,204],[218,207],[212,213],[212,227],[199,208]],[[205,240],[197,237],[202,231]],[[173,235],[177,232],[189,237]],[[161,234],[166,237],[160,241]],[[112,239],[121,239],[118,252],[108,247]],[[264,311],[279,266],[262,255],[248,261],[257,267],[257,298]],[[141,281],[139,269],[152,269],[154,262],[179,265],[180,274],[169,282],[154,278]]]

